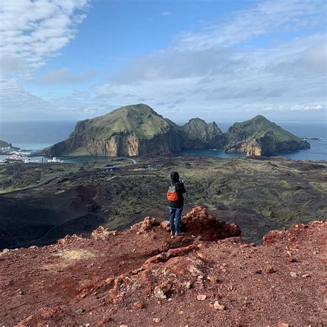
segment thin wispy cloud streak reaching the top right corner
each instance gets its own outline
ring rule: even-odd
[[[200,32],[184,32],[177,41],[181,49],[226,47],[275,32],[310,29],[324,23],[324,0],[259,1],[257,6],[235,12],[230,19],[206,26]]]

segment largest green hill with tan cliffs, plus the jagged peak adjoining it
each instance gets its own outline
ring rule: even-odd
[[[200,123],[198,123],[201,121]],[[196,137],[190,136],[196,131]],[[124,106],[107,115],[79,121],[66,139],[45,149],[46,155],[158,155],[185,148],[209,148],[221,137],[215,123],[193,119],[178,126],[146,104]]]

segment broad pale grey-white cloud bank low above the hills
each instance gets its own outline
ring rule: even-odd
[[[268,48],[169,48],[135,61],[93,92],[117,106],[146,102],[177,119],[212,119],[226,110],[323,112],[324,47],[324,35],[313,34]]]

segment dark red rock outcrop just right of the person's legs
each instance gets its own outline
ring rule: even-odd
[[[236,224],[217,221],[215,217],[208,214],[204,206],[194,206],[187,215],[182,217],[181,222],[188,234],[201,235],[202,239],[208,241],[241,235],[241,230]]]

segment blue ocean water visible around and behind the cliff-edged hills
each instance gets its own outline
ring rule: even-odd
[[[222,132],[234,122],[217,123]],[[276,121],[276,123],[298,137],[318,137],[319,141],[308,140],[311,148],[297,152],[280,154],[294,160],[327,160],[327,121]],[[75,128],[76,121],[20,121],[0,122],[0,139],[12,143],[23,150],[41,150],[63,141]],[[241,157],[241,154],[226,154],[224,150],[184,150],[184,155],[204,155],[209,157]],[[4,156],[0,156],[3,159]],[[101,157],[102,159],[104,157]],[[41,159],[36,157],[35,159]],[[84,162],[99,157],[67,159],[67,162]]]

